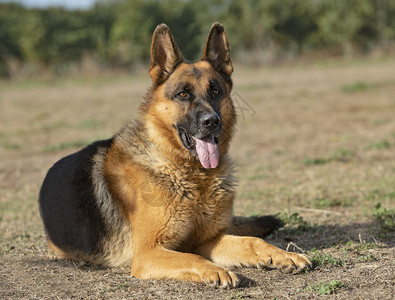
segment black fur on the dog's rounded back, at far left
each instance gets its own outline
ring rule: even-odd
[[[94,193],[93,157],[112,140],[99,141],[58,161],[43,182],[39,203],[48,238],[64,251],[97,254],[106,228]]]

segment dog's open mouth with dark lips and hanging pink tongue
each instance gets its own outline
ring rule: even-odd
[[[214,169],[218,166],[218,136],[209,134],[205,137],[198,138],[188,133],[182,127],[178,127],[178,134],[184,147],[199,158],[200,163],[205,169]]]

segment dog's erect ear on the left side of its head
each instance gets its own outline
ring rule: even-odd
[[[149,75],[154,85],[169,77],[175,67],[183,61],[169,27],[158,25],[154,31],[151,44],[151,64]]]

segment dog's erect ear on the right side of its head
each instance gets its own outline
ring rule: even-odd
[[[210,29],[202,60],[208,61],[214,69],[227,76],[233,72],[228,37],[224,26],[220,23],[214,23]]]

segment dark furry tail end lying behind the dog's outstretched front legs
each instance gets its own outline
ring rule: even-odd
[[[273,216],[239,217],[233,216],[228,234],[263,238],[284,224]]]

